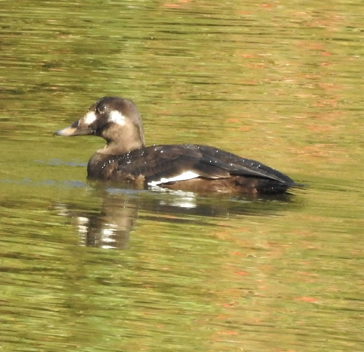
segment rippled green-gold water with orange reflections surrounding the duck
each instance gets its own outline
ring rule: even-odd
[[[358,2],[1,1],[2,351],[363,351]],[[147,144],[308,185],[279,198],[86,181],[54,138],[131,98]]]

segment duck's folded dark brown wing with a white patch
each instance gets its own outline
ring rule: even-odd
[[[115,172],[120,178],[144,177],[150,185],[195,177],[210,179],[231,175],[293,182],[289,177],[261,163],[226,151],[201,145],[150,146],[118,155]]]

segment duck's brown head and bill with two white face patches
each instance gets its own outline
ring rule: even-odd
[[[95,135],[106,140],[104,150],[124,153],[145,145],[141,116],[137,106],[128,99],[107,96],[96,101],[86,114],[58,136]]]

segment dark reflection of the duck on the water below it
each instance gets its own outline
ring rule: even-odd
[[[78,229],[80,245],[105,249],[126,248],[137,219],[199,226],[219,226],[214,219],[236,216],[272,216],[301,206],[292,194],[279,196],[232,196],[186,191],[135,190],[127,185],[89,181],[99,207],[57,203],[54,209],[70,217]]]

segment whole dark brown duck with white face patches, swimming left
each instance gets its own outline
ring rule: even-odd
[[[87,178],[135,187],[219,193],[283,194],[301,186],[261,162],[207,145],[146,146],[141,114],[129,99],[106,96],[58,136],[95,135],[106,145],[87,164]]]

